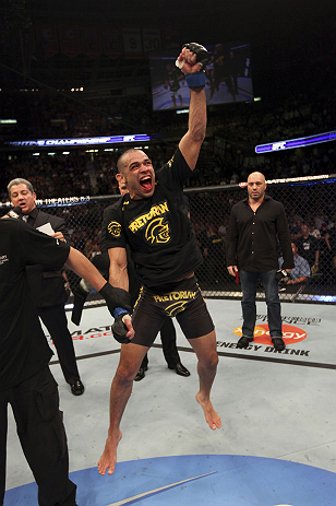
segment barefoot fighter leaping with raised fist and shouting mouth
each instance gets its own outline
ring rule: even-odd
[[[196,400],[205,420],[212,429],[221,426],[209,399],[218,363],[214,323],[194,279],[202,256],[183,199],[183,184],[195,168],[206,129],[205,73],[200,72],[203,64],[196,62],[200,48],[187,45],[178,58],[191,90],[189,129],[173,157],[156,173],[148,156],[140,150],[128,150],[118,161],[118,177],[124,179],[129,193],[109,210],[105,221],[109,279],[115,286],[128,290],[128,245],[142,289],[132,315],[135,337],[131,343],[121,345],[111,386],[110,426],[98,462],[100,474],[115,471],[120,421],[133,379],[167,315],[176,316],[197,355]]]

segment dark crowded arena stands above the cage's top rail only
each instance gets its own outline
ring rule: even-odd
[[[172,155],[178,139],[187,130],[188,115],[153,113],[145,96],[89,102],[88,106],[64,96],[24,94],[0,101],[1,115],[19,118],[14,131],[0,130],[0,143],[8,140],[155,133],[165,141],[149,145],[155,167]],[[15,113],[16,111],[16,113]],[[209,137],[201,151],[190,186],[229,185],[247,180],[251,170],[261,170],[266,179],[336,173],[335,142],[297,150],[255,154],[257,144],[313,136],[334,128],[336,91],[324,96],[301,94],[280,104],[228,104],[209,107]],[[25,118],[25,119],[23,119]],[[28,118],[28,119],[27,119]],[[170,139],[169,140],[169,136]],[[96,153],[71,150],[70,154],[48,155],[40,151],[1,152],[1,200],[3,181],[29,175],[40,198],[110,195],[117,192],[118,151]]]

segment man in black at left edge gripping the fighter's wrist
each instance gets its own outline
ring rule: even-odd
[[[40,506],[75,506],[69,479],[67,436],[57,383],[48,362],[52,351],[43,332],[26,275],[27,264],[65,266],[92,283],[113,314],[130,304],[80,251],[21,220],[0,220],[0,504],[5,489],[7,409],[12,405],[17,434],[38,485]],[[130,306],[129,306],[130,307]],[[125,320],[131,339],[130,319]]]

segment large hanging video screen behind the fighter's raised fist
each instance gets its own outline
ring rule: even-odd
[[[206,67],[206,102],[208,105],[252,102],[251,45],[218,43],[205,45],[211,55]],[[176,67],[176,49],[149,54],[153,109],[189,107],[189,89],[184,74]]]

